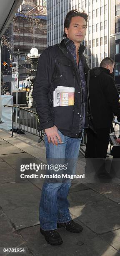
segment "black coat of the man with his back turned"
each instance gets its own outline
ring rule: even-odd
[[[89,96],[95,128],[110,127],[113,115],[120,120],[120,98],[108,69],[98,67],[90,70]]]

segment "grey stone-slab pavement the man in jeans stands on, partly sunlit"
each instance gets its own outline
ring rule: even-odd
[[[34,137],[34,138],[33,138]],[[72,183],[68,200],[73,220],[82,233],[59,229],[62,246],[50,246],[40,234],[39,202],[42,181],[15,182],[19,159],[46,163],[45,145],[37,136],[0,129],[0,255],[117,256],[120,255],[120,185]],[[79,156],[79,168],[85,159]],[[25,253],[2,253],[2,248],[25,248]]]

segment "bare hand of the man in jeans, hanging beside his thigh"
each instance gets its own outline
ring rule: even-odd
[[[60,143],[62,143],[62,140],[57,133],[57,127],[54,125],[53,127],[45,129],[45,133],[47,135],[48,142],[50,143],[52,141],[53,145],[58,145],[57,138]],[[57,138],[56,138],[57,137]]]

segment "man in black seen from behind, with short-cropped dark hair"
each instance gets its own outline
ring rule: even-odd
[[[119,94],[115,81],[111,76],[114,64],[114,61],[107,57],[101,61],[100,67],[90,70],[90,111],[96,133],[90,128],[86,129],[86,158],[105,159],[114,114],[117,116],[117,120],[120,121]],[[94,163],[96,163],[96,167],[99,169],[98,161],[95,162],[94,160]],[[98,175],[106,178],[110,177],[105,169],[103,169],[103,166],[98,170]]]

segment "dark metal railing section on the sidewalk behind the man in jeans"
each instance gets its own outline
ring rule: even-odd
[[[18,108],[18,117],[17,117],[17,129],[18,131],[15,131],[16,133],[20,133],[20,131],[28,132],[33,135],[36,135],[39,137],[37,142],[44,141],[43,140],[43,131],[38,131],[39,126],[39,119],[37,117],[37,113],[33,112],[31,110],[21,108],[18,106],[11,106],[11,105],[4,105],[4,107],[11,108],[11,115],[12,115],[12,136],[13,137],[13,131],[15,130],[13,128],[13,108]]]

